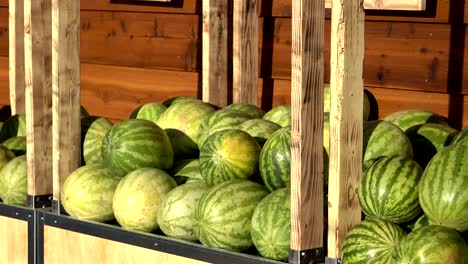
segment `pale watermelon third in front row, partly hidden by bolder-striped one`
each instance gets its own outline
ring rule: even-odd
[[[204,182],[186,183],[171,190],[158,213],[158,225],[168,237],[197,241],[195,208],[209,190]]]

